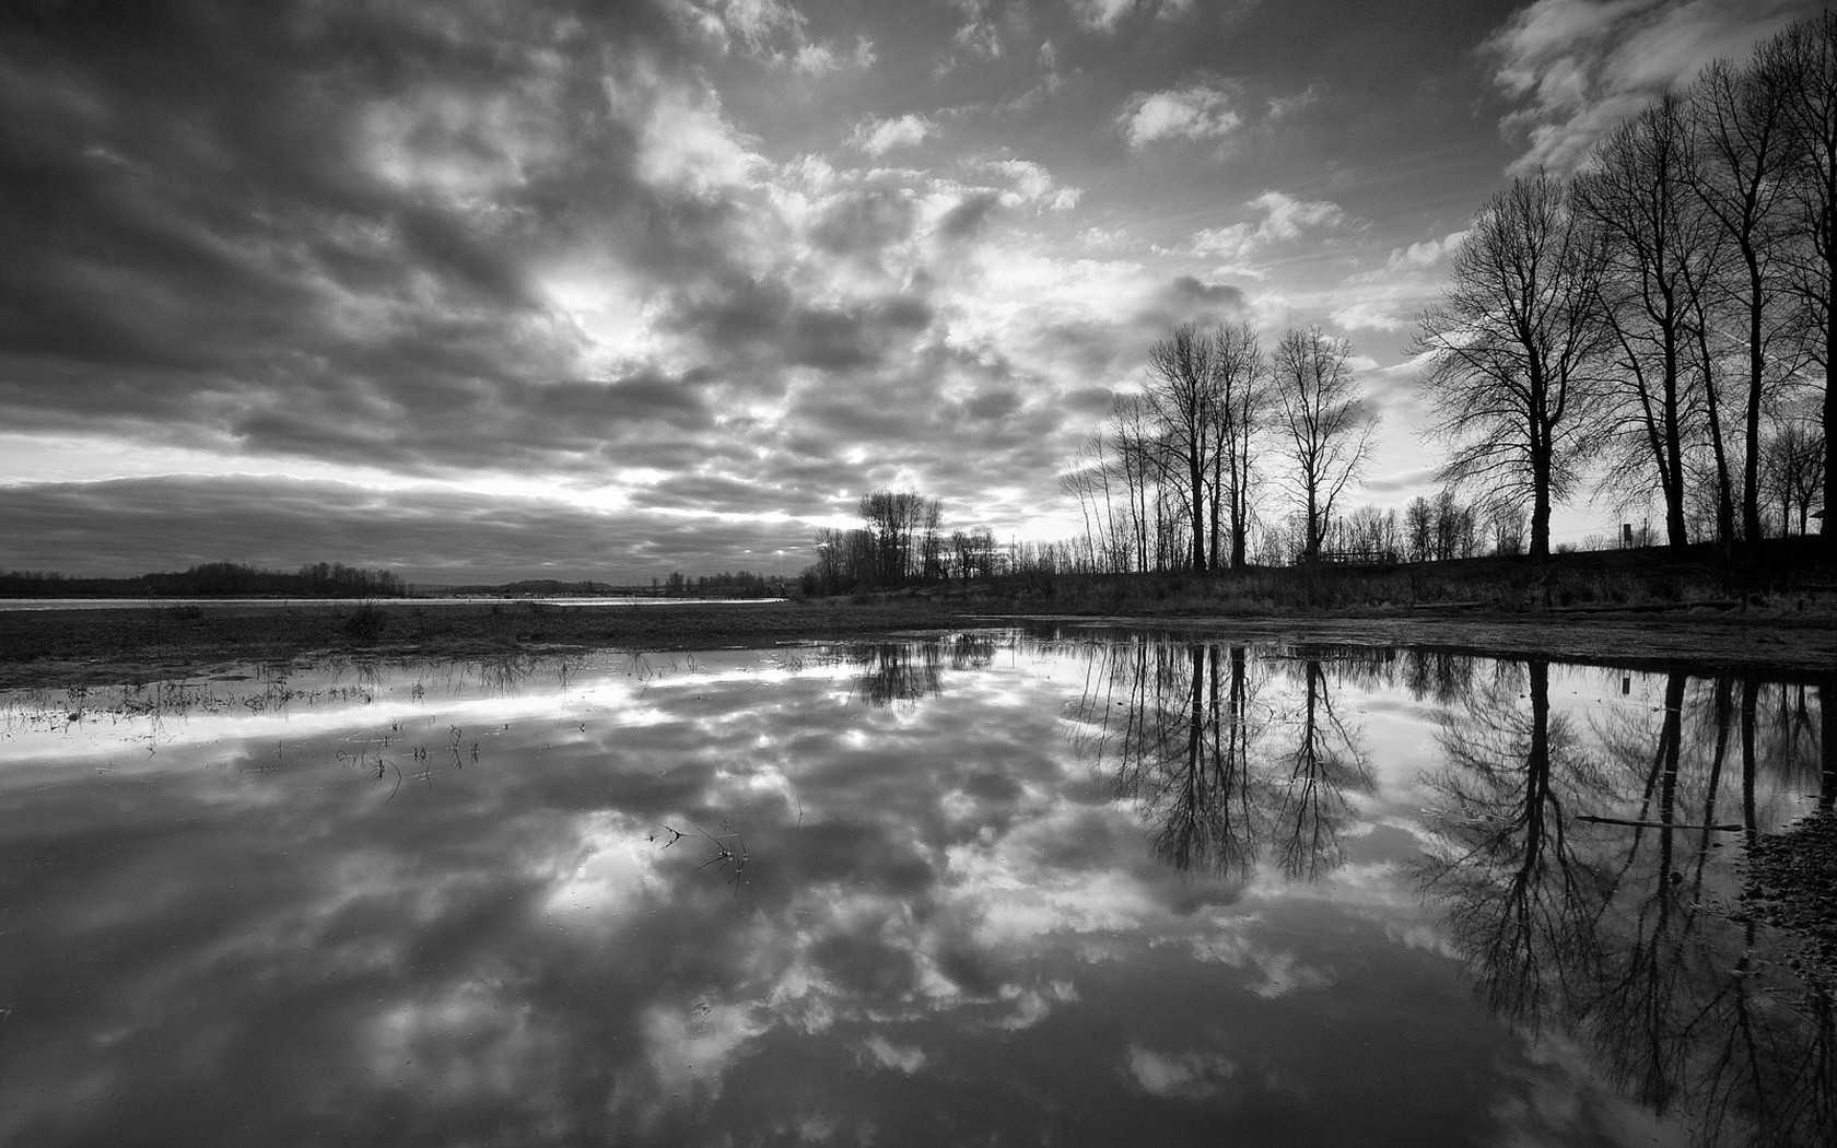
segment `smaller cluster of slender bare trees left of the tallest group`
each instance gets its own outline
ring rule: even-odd
[[[1187,323],[1154,343],[1141,393],[1060,476],[1084,516],[1080,566],[1095,571],[1244,566],[1260,461],[1280,457],[1297,551],[1319,558],[1335,511],[1370,459],[1376,410],[1358,393],[1352,343],[1291,329],[1271,355],[1249,321]]]

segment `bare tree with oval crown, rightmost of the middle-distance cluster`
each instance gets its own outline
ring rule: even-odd
[[[1275,349],[1275,410],[1302,503],[1302,557],[1321,557],[1334,503],[1370,461],[1376,411],[1359,399],[1352,378],[1352,343],[1319,327],[1290,329]]]

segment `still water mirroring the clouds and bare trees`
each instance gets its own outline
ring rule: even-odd
[[[1830,1142],[1732,918],[1822,724],[1119,630],[20,691],[0,1142]]]

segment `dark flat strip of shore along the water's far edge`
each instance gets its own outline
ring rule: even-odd
[[[895,597],[566,606],[156,606],[0,612],[0,689],[187,676],[226,663],[312,656],[490,658],[582,650],[696,650],[849,641],[1001,626],[1130,628],[1170,637],[1413,647],[1622,669],[1688,669],[1797,681],[1837,676],[1837,619],[1692,608],[1499,613],[1062,613],[994,599]]]

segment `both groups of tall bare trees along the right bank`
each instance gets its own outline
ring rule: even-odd
[[[1185,325],[1060,478],[1075,566],[1545,557],[1583,492],[1655,503],[1670,546],[1806,533],[1837,468],[1837,17],[1710,64],[1578,174],[1493,195],[1449,279],[1411,342],[1440,498],[1345,509],[1376,424],[1347,340],[1266,355],[1251,323]]]

